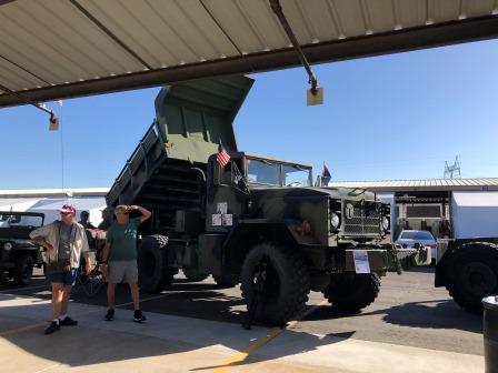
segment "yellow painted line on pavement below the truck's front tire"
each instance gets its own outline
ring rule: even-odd
[[[319,306],[321,306],[321,305],[323,305],[326,303],[328,303],[327,300],[323,300],[320,303],[310,306],[297,320],[289,321],[287,323],[287,325],[283,326],[283,327],[270,329],[270,331],[265,336],[261,336],[258,340],[252,341],[251,343],[249,343],[249,345],[246,349],[243,349],[242,351],[237,352],[230,359],[228,359],[226,362],[223,362],[220,366],[213,369],[212,373],[225,373],[225,372],[228,372],[230,366],[243,362],[251,353],[253,353],[255,351],[261,349],[263,345],[266,345],[268,342],[270,342],[275,337],[279,336],[286,330],[290,330],[292,327],[296,327],[296,325],[299,323],[299,321],[301,321],[302,319],[308,316],[310,313],[315,312]]]

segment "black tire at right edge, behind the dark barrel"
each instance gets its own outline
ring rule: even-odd
[[[481,313],[481,300],[498,293],[498,245],[468,243],[454,251],[445,263],[446,288],[464,310]]]

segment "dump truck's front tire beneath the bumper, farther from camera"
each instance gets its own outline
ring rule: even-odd
[[[323,291],[325,298],[343,311],[360,311],[379,294],[380,278],[375,273],[337,273]]]

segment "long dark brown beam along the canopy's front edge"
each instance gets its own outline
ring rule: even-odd
[[[498,17],[488,16],[302,46],[302,51],[306,53],[308,61],[322,63],[487,40],[497,37]],[[22,91],[22,94],[31,101],[40,102],[157,87],[195,79],[285,69],[299,64],[300,61],[293,49],[281,49],[175,68],[32,89]],[[0,94],[0,108],[24,103],[26,100],[20,100],[12,94]]]

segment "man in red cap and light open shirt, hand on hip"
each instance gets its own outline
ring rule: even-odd
[[[44,331],[46,334],[59,331],[61,325],[78,325],[76,320],[68,316],[68,303],[81,256],[86,260],[87,274],[91,271],[87,233],[76,222],[74,214],[74,206],[67,203],[60,209],[60,220],[30,233],[30,238],[46,248],[48,254],[47,268],[52,284],[52,322]]]

